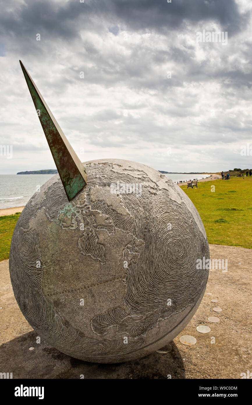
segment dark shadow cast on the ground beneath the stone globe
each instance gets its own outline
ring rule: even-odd
[[[167,354],[153,352],[138,360],[101,364],[89,363],[67,356],[41,340],[32,331],[0,346],[0,369],[16,378],[69,379],[183,379],[184,363],[178,347],[172,341]],[[29,350],[34,347],[33,350]]]

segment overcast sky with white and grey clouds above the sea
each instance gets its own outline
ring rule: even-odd
[[[251,168],[240,153],[252,145],[251,9],[251,0],[0,1],[0,144],[13,147],[0,174],[55,168],[19,59],[82,162]],[[203,30],[227,32],[227,43],[199,42]]]

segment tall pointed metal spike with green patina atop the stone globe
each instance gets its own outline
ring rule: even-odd
[[[66,139],[66,136],[59,127],[59,124],[41,96],[34,81],[23,66],[21,60],[19,62],[32,96],[34,106],[37,112],[39,110],[38,117],[40,119],[40,124],[42,125],[49,148],[53,155],[66,195],[68,200],[71,201],[87,184],[86,169]]]

